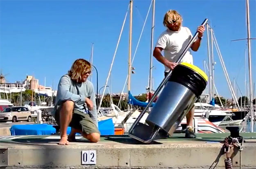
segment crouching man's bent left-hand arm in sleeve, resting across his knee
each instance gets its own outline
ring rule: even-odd
[[[70,92],[69,91],[70,86],[71,86],[70,79],[68,79],[68,77],[66,76],[61,77],[58,85],[58,95],[59,95],[60,101],[70,100],[70,101],[73,101],[74,103],[78,103],[80,101],[85,102],[86,97]]]

